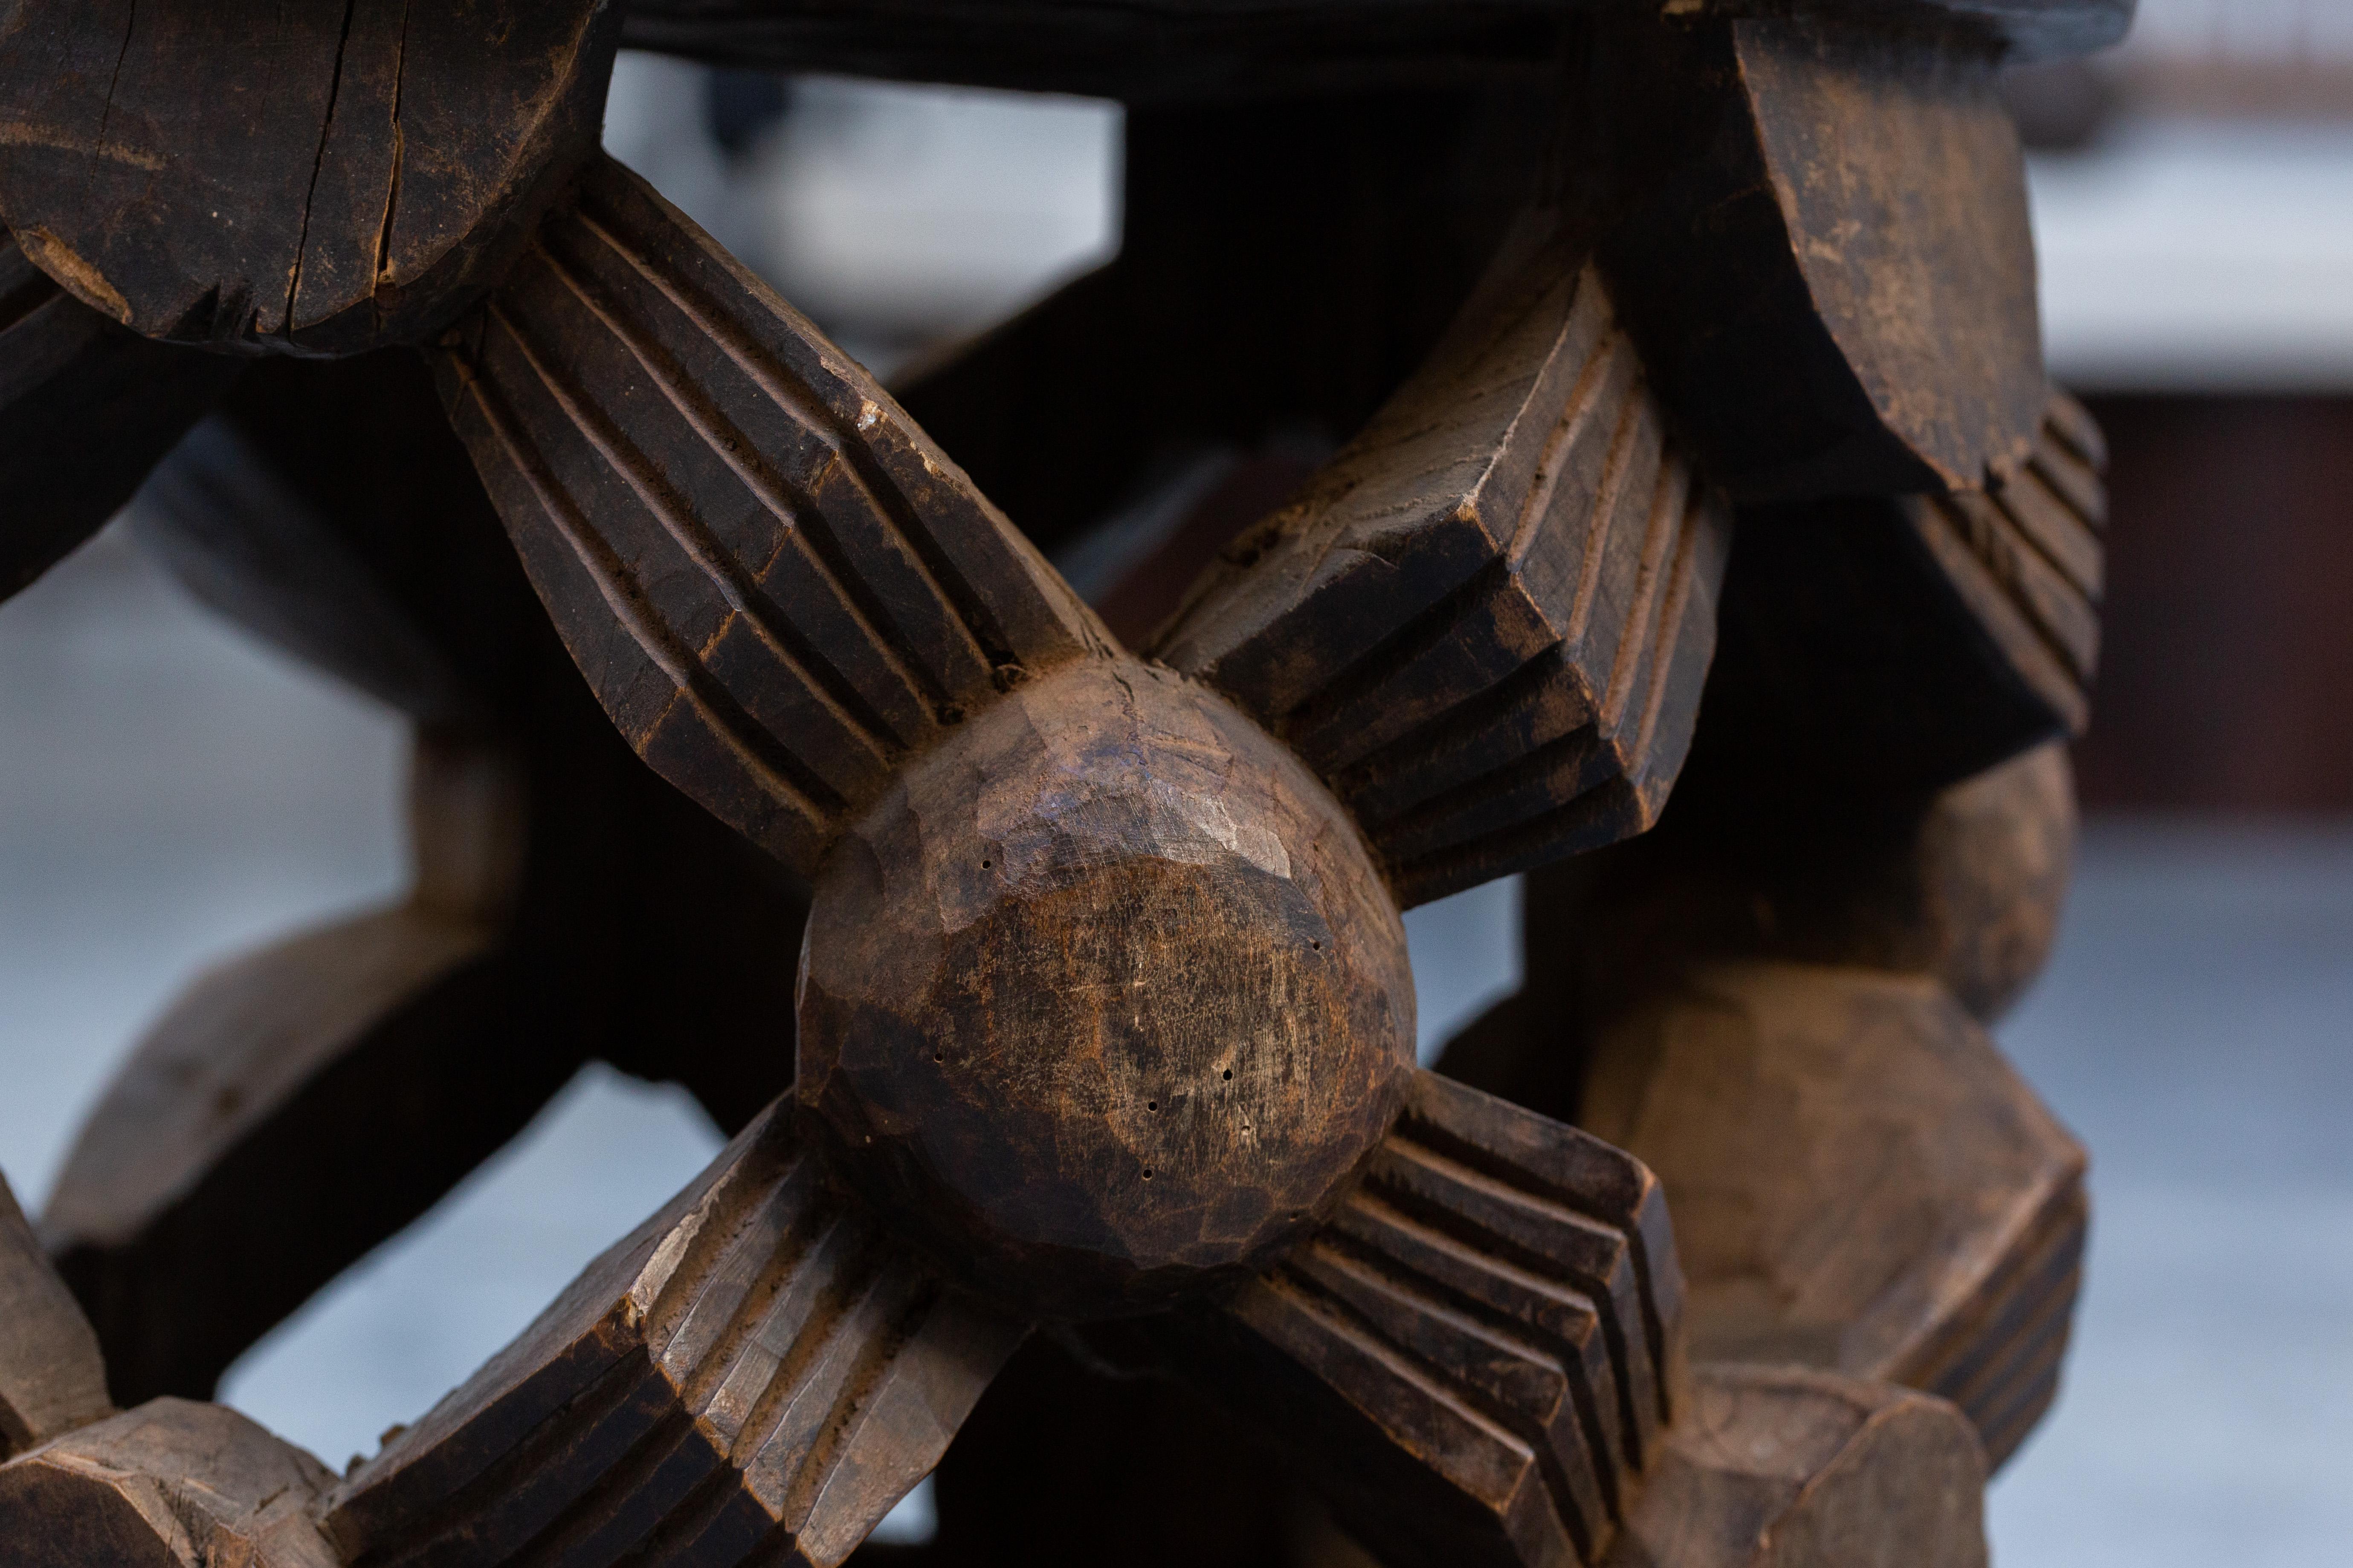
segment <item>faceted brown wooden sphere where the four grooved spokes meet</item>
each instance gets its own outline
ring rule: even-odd
[[[1355,823],[1165,668],[1016,686],[819,875],[800,1098],[868,1199],[1035,1314],[1268,1262],[1412,1065],[1405,929]]]

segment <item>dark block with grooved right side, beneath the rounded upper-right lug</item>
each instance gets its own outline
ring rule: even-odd
[[[1692,795],[1925,792],[2082,733],[2104,463],[2097,425],[2054,393],[1998,487],[1746,508]]]

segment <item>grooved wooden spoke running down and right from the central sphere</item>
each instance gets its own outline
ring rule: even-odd
[[[1160,1333],[1384,1563],[1595,1563],[1680,1420],[1680,1314],[1649,1171],[1419,1074],[1325,1229]]]

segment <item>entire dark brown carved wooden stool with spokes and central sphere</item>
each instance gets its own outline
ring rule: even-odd
[[[0,1206],[0,1556],[831,1568],[944,1467],[896,1556],[1981,1563],[2104,510],[1993,73],[2127,19],[16,5],[0,576],[146,482],[419,741],[407,905]],[[894,395],[598,153],[621,42],[1127,99],[1122,252]],[[593,1058],[734,1140],[351,1474],[205,1403]]]

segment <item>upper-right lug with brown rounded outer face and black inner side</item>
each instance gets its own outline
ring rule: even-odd
[[[1739,501],[2019,468],[2042,336],[1995,54],[1812,19],[1605,28],[1581,82],[1602,268]]]

